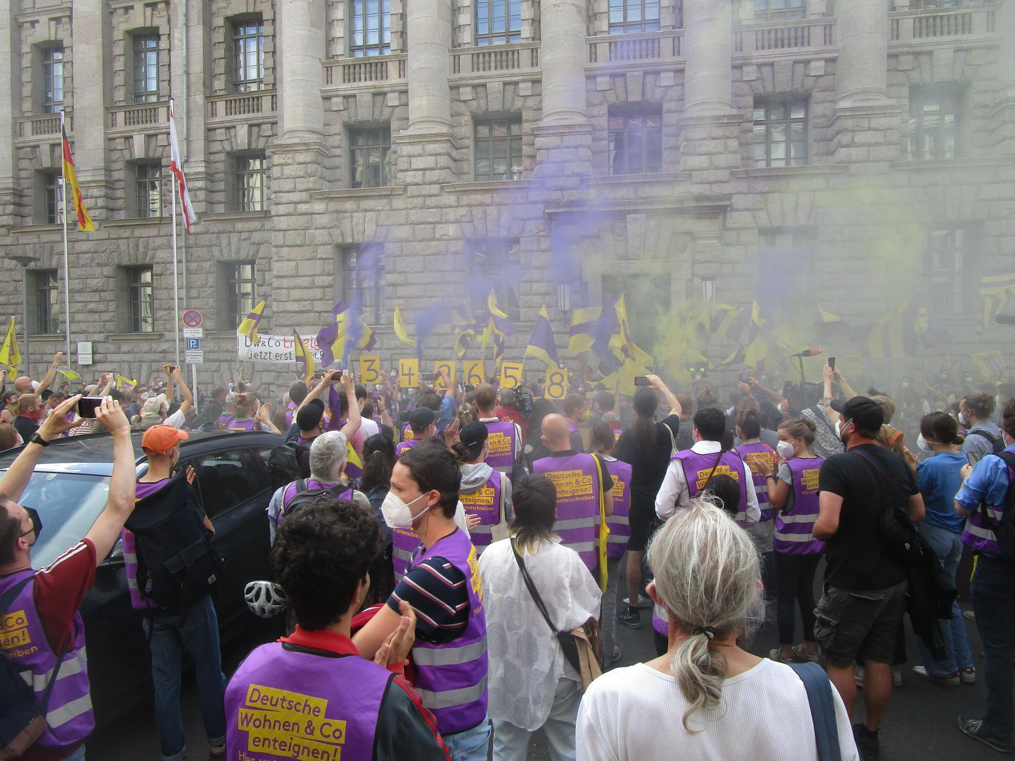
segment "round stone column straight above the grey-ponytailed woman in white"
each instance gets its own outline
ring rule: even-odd
[[[684,0],[684,114],[726,116],[733,110],[733,5]]]

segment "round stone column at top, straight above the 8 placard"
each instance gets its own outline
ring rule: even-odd
[[[586,0],[543,0],[540,64],[543,70],[541,126],[586,120]]]

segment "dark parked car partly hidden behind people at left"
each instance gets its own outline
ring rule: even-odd
[[[147,461],[141,434],[133,438],[141,476]],[[181,442],[179,467],[191,465],[197,471],[194,488],[215,527],[214,546],[225,559],[214,596],[223,640],[258,620],[244,602],[244,586],[269,576],[265,510],[272,489],[265,463],[280,441],[280,436],[255,431],[192,431]],[[0,470],[19,452],[0,455]],[[112,475],[113,439],[105,433],[57,439],[43,452],[19,500],[38,509],[43,520],[40,541],[31,551],[33,567],[50,563],[88,532],[106,506]],[[81,616],[95,719],[104,724],[129,708],[132,696],[151,678],[142,614],[130,604],[119,542],[96,570]]]

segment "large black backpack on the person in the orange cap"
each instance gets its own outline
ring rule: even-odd
[[[136,538],[138,586],[160,610],[184,616],[215,585],[222,559],[184,473],[138,500],[125,528]]]

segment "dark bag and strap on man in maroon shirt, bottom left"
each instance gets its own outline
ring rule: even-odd
[[[33,578],[35,576],[26,577],[0,597],[0,620]],[[42,702],[37,703],[35,693],[14,668],[14,662],[0,649],[0,758],[18,758],[23,755],[48,729],[47,708],[64,654],[59,653]]]

